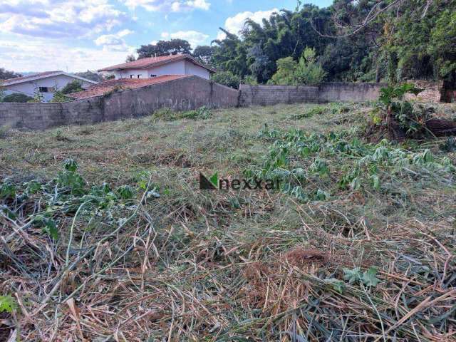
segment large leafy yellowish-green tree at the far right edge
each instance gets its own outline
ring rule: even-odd
[[[393,13],[385,17],[382,50],[389,79],[455,80],[456,1],[432,1],[424,16],[420,6],[423,1],[410,0],[398,19]]]

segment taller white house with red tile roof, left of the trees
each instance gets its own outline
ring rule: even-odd
[[[165,75],[195,75],[209,80],[214,68],[205,66],[190,55],[178,54],[140,58],[137,61],[117,64],[98,70],[115,75],[115,79],[123,78],[155,78]]]

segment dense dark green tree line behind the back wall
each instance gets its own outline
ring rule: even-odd
[[[326,81],[455,82],[456,0],[334,0],[323,9],[300,2],[261,24],[247,19],[238,35],[220,28],[226,38],[193,55],[230,85],[306,83],[296,76],[306,48],[315,54],[312,72]],[[138,49],[139,58],[170,53],[190,53],[190,44],[173,39]]]

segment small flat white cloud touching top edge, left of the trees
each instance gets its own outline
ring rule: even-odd
[[[207,0],[120,0],[130,9],[142,7],[146,11],[182,12],[201,9],[209,10]]]

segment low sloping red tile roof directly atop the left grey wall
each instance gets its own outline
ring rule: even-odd
[[[150,86],[151,84],[165,83],[178,78],[190,77],[190,75],[164,75],[154,78],[120,78],[119,80],[110,80],[102,83],[95,84],[87,90],[78,91],[77,93],[67,94],[70,98],[80,100],[81,98],[93,98],[95,96],[103,95],[105,93],[119,88],[119,90],[128,90],[134,88],[141,88]]]

